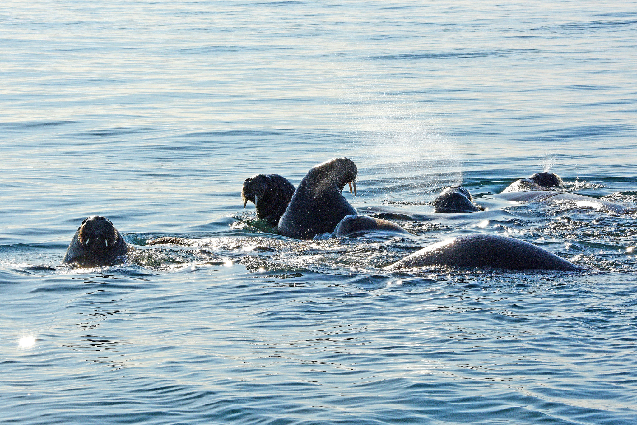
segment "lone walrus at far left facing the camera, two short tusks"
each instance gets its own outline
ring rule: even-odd
[[[78,227],[62,263],[78,263],[81,266],[108,266],[125,261],[127,245],[113,223],[93,215],[84,219]]]

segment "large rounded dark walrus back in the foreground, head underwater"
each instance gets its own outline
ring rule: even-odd
[[[384,270],[424,266],[508,270],[586,270],[533,243],[508,236],[472,234],[434,243]]]

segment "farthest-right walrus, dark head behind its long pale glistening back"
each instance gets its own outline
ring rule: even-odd
[[[612,212],[632,212],[633,209],[615,202],[601,201],[590,196],[560,192],[552,188],[562,186],[562,179],[553,173],[535,173],[529,178],[520,178],[495,198],[516,202],[573,201],[576,206],[590,206]]]

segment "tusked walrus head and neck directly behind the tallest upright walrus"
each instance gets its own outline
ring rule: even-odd
[[[257,218],[275,227],[294,194],[294,185],[278,174],[257,174],[245,179],[241,188],[243,208],[248,201],[257,208]]]

